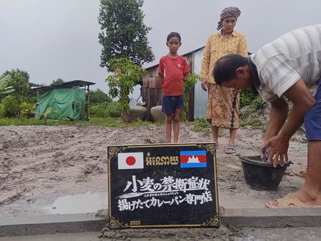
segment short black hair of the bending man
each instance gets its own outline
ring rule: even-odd
[[[221,86],[223,82],[228,82],[232,78],[235,78],[236,69],[246,64],[246,58],[238,54],[228,54],[219,58],[213,70],[215,83]]]

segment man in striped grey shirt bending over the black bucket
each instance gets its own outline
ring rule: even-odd
[[[270,120],[263,157],[271,147],[268,161],[274,167],[287,162],[291,136],[304,121],[308,140],[307,177],[298,192],[273,202],[270,208],[321,206],[321,25],[284,34],[250,57],[236,54],[220,58],[214,68],[216,84],[236,90],[252,89],[271,103]],[[313,97],[308,87],[318,84]],[[287,98],[293,103],[288,118]],[[282,130],[281,130],[282,128]]]

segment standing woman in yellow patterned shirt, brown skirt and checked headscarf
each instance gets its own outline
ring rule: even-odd
[[[208,91],[206,119],[211,123],[213,141],[218,144],[219,127],[229,128],[229,142],[225,153],[235,152],[235,136],[238,128],[239,93],[215,84],[215,62],[226,54],[248,55],[244,34],[234,30],[240,11],[236,7],[223,9],[218,22],[219,32],[209,36],[203,52],[201,75],[202,89]]]

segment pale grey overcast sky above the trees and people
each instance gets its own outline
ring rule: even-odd
[[[50,84],[53,79],[96,82],[108,92],[98,43],[99,0],[0,0],[0,72],[28,71],[30,82]],[[246,35],[255,52],[283,33],[321,23],[320,0],[145,0],[144,23],[152,27],[149,44],[158,62],[167,54],[166,37],[179,32],[184,54],[203,46],[216,32],[225,7],[241,10],[236,30]]]

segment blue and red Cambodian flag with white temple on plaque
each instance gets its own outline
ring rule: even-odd
[[[182,150],[181,168],[206,168],[206,150]]]

